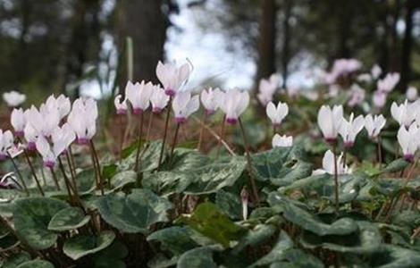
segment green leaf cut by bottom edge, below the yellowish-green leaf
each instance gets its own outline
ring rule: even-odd
[[[209,247],[197,247],[181,255],[177,268],[217,268]]]

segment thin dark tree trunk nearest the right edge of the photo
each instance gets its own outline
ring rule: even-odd
[[[416,10],[416,5],[413,0],[407,0],[406,4],[406,29],[404,32],[404,39],[402,41],[401,52],[401,81],[400,90],[405,92],[408,81],[411,78],[411,52],[413,47],[413,14]]]

